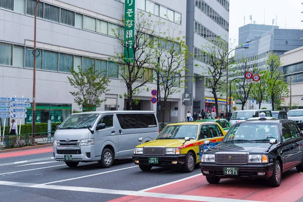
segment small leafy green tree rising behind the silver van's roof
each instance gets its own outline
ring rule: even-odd
[[[94,66],[91,66],[84,71],[78,66],[78,71],[70,68],[72,77],[68,77],[70,84],[77,91],[70,92],[74,96],[74,101],[77,105],[85,109],[85,111],[94,111],[100,107],[105,99],[100,99],[103,93],[109,91],[107,86],[110,80],[103,76],[103,72],[95,71]]]

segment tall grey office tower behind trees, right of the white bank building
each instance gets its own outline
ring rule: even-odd
[[[189,58],[187,68],[189,76],[203,75],[203,67],[208,63],[201,53],[201,46],[209,41],[216,44],[221,36],[229,41],[229,1],[226,0],[188,0],[186,15],[186,44],[193,55]],[[217,45],[217,44],[216,44]],[[185,100],[186,111],[198,112],[201,109],[211,110],[215,106],[213,94],[205,88],[205,77],[187,79],[185,93],[191,95]],[[226,98],[219,99],[219,111],[226,107]]]

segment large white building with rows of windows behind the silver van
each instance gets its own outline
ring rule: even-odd
[[[150,13],[154,21],[161,19],[175,27],[176,33],[185,36],[186,0],[176,0],[174,4],[166,0],[131,2],[137,5],[137,11]],[[0,1],[0,96],[17,95],[32,100],[35,4],[35,0]],[[77,69],[78,66],[85,69],[94,65],[96,70],[107,71],[111,80],[110,91],[100,97],[107,100],[96,110],[127,110],[127,100],[119,96],[127,91],[125,83],[119,76],[118,64],[109,60],[121,49],[113,30],[124,33],[123,18],[124,0],[40,1],[37,8],[36,110],[41,122],[46,122],[52,111],[64,119],[73,110],[80,110],[70,93],[74,89],[68,80],[71,76],[68,68]],[[153,75],[154,68],[150,65],[145,70]],[[157,89],[156,82],[148,81],[146,88]],[[185,117],[182,94],[183,90],[169,97],[165,121],[182,121]],[[156,111],[151,97],[150,91],[142,90],[134,110]]]

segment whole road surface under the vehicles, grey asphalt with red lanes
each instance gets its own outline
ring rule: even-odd
[[[51,148],[0,154],[0,201],[297,201],[303,173],[283,174],[280,187],[264,180],[224,179],[210,185],[198,167],[192,173],[153,168],[143,172],[131,159],[109,169],[96,163],[69,168],[55,162]],[[22,156],[21,156],[22,155]],[[302,200],[300,200],[302,201]]]

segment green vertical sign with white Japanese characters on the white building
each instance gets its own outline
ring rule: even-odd
[[[124,55],[126,61],[129,63],[134,61],[135,5],[135,0],[125,0]]]

